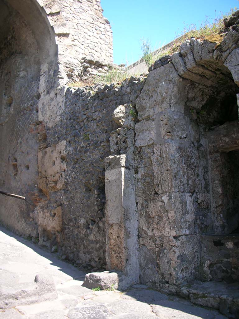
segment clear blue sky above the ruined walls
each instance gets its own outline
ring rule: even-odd
[[[114,63],[137,61],[141,39],[157,49],[175,39],[185,25],[200,26],[206,16],[215,16],[239,7],[237,0],[101,0],[104,16],[113,31]]]

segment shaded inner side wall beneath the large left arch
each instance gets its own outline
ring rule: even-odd
[[[36,135],[40,56],[33,32],[18,11],[1,2],[0,58],[0,188],[34,197],[36,192]],[[14,190],[14,191],[13,191]],[[1,198],[1,220],[22,234],[37,234],[25,203]]]

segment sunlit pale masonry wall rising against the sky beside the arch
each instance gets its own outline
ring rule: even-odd
[[[102,15],[100,0],[39,0],[54,28],[58,45],[60,82],[77,80],[81,59],[113,62],[112,31]]]

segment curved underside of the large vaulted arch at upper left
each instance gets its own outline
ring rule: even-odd
[[[1,19],[4,23],[3,36],[5,35],[5,39],[6,35],[10,38],[13,37],[14,35],[10,33],[15,25],[13,32],[18,41],[18,49],[15,48],[15,50],[27,55],[28,65],[31,63],[31,67],[28,68],[33,70],[38,67],[41,76],[43,76],[42,79],[46,81],[47,76],[52,76],[55,71],[58,59],[54,29],[50,25],[46,11],[36,0],[21,2],[2,0],[1,6],[3,8]],[[22,44],[20,45],[20,43]],[[10,43],[10,45],[13,44]],[[14,50],[14,48],[12,49]]]

